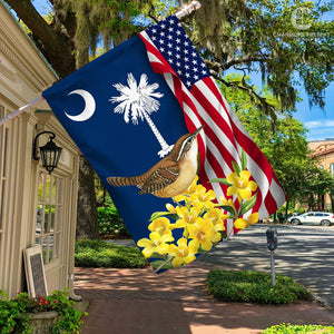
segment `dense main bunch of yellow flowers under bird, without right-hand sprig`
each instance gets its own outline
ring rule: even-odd
[[[178,267],[194,261],[196,254],[212,249],[222,239],[220,232],[225,230],[224,220],[228,216],[215,208],[212,200],[216,198],[216,194],[207,191],[197,181],[196,176],[187,191],[174,198],[177,205],[167,204],[168,212],[161,213],[148,225],[149,238],[137,243],[139,247],[144,247],[143,254],[146,257],[158,254],[173,261],[173,267]],[[168,217],[173,217],[175,223],[171,224]],[[173,244],[174,229],[181,229],[183,234],[176,244]]]

